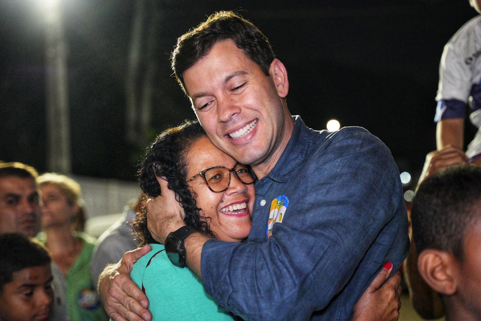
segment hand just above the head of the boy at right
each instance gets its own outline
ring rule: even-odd
[[[457,147],[448,145],[439,151],[432,151],[426,155],[419,183],[443,168],[461,164],[468,164],[468,157]]]

